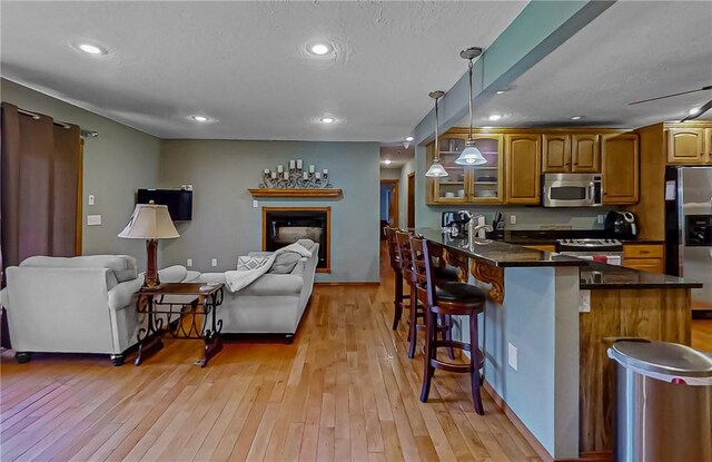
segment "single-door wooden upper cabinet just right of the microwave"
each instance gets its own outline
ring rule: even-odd
[[[601,137],[603,204],[635,204],[640,197],[640,153],[636,134]]]

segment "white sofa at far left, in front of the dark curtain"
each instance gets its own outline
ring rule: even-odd
[[[189,282],[198,274],[184,266],[159,272],[161,282]],[[128,255],[36,256],[8,267],[0,297],[18,362],[39,352],[103,353],[122,364],[137,343],[142,316],[136,292],[142,282]]]

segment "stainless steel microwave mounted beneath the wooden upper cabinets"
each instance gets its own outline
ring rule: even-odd
[[[602,181],[597,174],[544,174],[544,207],[599,207]]]

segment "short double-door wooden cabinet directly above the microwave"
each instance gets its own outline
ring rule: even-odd
[[[542,135],[542,171],[545,174],[601,171],[599,135]]]

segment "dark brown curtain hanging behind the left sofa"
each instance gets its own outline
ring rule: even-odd
[[[80,129],[2,104],[0,261],[2,272],[33,255],[73,256]],[[2,281],[4,286],[4,277]],[[3,313],[4,325],[4,313]],[[7,335],[3,330],[2,343]],[[4,345],[3,345],[4,346]]]

